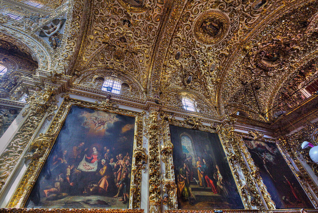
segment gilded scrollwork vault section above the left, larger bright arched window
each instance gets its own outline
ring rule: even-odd
[[[151,1],[136,8],[123,1],[92,2],[90,27],[75,69],[122,66],[125,72],[139,79],[145,88],[153,47],[163,19],[162,4]]]

